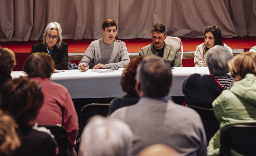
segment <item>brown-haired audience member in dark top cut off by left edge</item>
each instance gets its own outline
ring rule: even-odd
[[[8,48],[0,46],[0,88],[4,82],[11,79],[11,71],[16,65],[15,54]]]

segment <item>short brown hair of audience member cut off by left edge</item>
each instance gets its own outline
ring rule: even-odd
[[[15,54],[8,48],[1,48],[0,46],[0,73],[10,74],[16,65]]]

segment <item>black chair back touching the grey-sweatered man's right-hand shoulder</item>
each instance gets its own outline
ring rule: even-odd
[[[186,105],[195,110],[201,117],[204,124],[207,141],[209,143],[212,136],[219,129],[219,121],[216,119],[212,108],[202,108],[194,105]]]

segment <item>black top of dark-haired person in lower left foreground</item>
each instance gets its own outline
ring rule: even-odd
[[[19,132],[19,131],[18,131]],[[46,132],[32,128],[21,128],[21,147],[15,150],[14,156],[55,156],[56,144]]]

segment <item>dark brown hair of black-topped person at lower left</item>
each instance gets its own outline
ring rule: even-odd
[[[0,91],[0,109],[12,115],[20,127],[31,127],[43,105],[44,95],[38,82],[21,77],[4,84]]]

